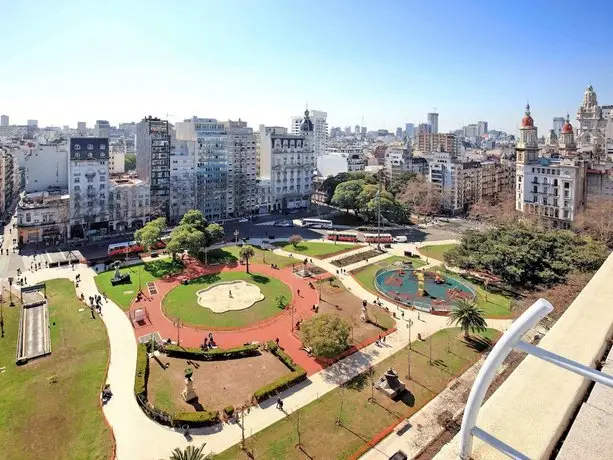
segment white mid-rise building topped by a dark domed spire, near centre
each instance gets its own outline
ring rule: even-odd
[[[270,178],[272,210],[308,207],[315,168],[313,130],[306,110],[300,134],[260,132],[260,174]]]

